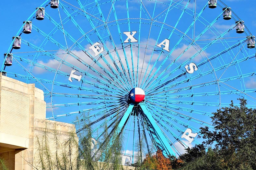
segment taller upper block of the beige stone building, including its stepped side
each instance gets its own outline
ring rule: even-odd
[[[42,90],[0,75],[0,143],[28,148],[30,119],[45,119],[45,114]]]

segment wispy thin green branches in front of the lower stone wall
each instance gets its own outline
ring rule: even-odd
[[[35,162],[29,163],[34,169],[74,170],[76,169],[74,160],[76,160],[77,155],[73,149],[78,146],[75,134],[70,132],[65,142],[61,143],[56,124],[54,126],[53,132],[48,132],[46,123],[44,134],[36,136],[38,151],[35,154]]]

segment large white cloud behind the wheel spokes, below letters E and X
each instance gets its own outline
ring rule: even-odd
[[[138,54],[138,47],[137,44],[132,44],[132,52],[131,52],[131,48],[128,45],[126,48],[124,48],[124,50],[122,49],[121,45],[116,45],[117,46],[117,52],[114,51],[113,45],[110,42],[105,42],[105,45],[108,47],[109,52],[106,51],[106,49],[104,49],[104,51],[102,52],[103,56],[102,58],[99,58],[98,56],[95,56],[93,50],[89,49],[89,47],[91,45],[86,45],[85,49],[87,50],[88,53],[90,53],[92,55],[92,57],[95,57],[98,60],[98,64],[95,64],[94,61],[92,61],[92,59],[90,57],[88,57],[82,50],[73,50],[72,53],[74,55],[76,55],[77,57],[79,57],[80,59],[82,59],[84,62],[86,62],[88,65],[90,65],[91,67],[99,70],[99,72],[101,72],[102,74],[104,74],[105,76],[108,76],[106,73],[104,73],[104,71],[99,67],[99,65],[102,65],[105,69],[105,71],[111,71],[111,68],[113,70],[115,70],[118,73],[118,69],[116,68],[116,66],[114,65],[113,61],[115,61],[117,67],[122,71],[122,67],[121,67],[121,63],[125,69],[126,72],[128,72],[127,70],[130,69],[132,70],[132,65],[134,67],[134,71],[135,72],[139,72],[139,76],[140,73],[142,75],[144,74],[149,74],[150,70],[153,70],[152,74],[154,73],[154,70],[156,70],[155,68],[153,68],[153,65],[155,64],[155,62],[157,61],[157,58],[159,57],[159,53],[157,51],[154,51],[154,46],[156,45],[156,40],[150,38],[148,41],[143,40],[140,42],[140,51]],[[147,46],[146,46],[147,44]],[[101,47],[102,44],[99,45],[99,47]],[[147,48],[146,48],[147,47]],[[157,47],[158,48],[158,47]],[[44,60],[44,59],[38,59],[37,63],[41,64],[43,66],[46,67],[50,67],[53,68],[55,70],[60,70],[64,73],[66,73],[67,75],[70,74],[71,70],[74,70],[74,68],[72,68],[72,65],[75,66],[75,69],[78,71],[76,74],[79,75],[79,69],[88,72],[88,67],[85,66],[83,63],[79,62],[76,58],[74,58],[71,55],[68,54],[61,54],[63,53],[63,51],[59,51],[57,52],[56,55],[57,57],[59,57],[61,60],[69,63],[71,66],[67,66],[65,64],[62,64],[61,62],[55,60],[55,59],[48,59],[48,60]],[[111,59],[111,56],[113,57]],[[120,60],[118,59],[118,55]],[[125,57],[126,56],[126,57]],[[103,59],[104,57],[104,59]],[[132,59],[133,57],[133,59]],[[161,60],[165,58],[165,56],[163,54],[160,55],[158,62],[160,64]],[[128,68],[128,65],[129,68]],[[137,67],[138,65],[138,68]],[[111,68],[109,68],[111,67]],[[156,66],[157,67],[157,66]],[[79,69],[77,69],[79,68]],[[147,71],[146,71],[147,70]],[[33,72],[37,73],[37,74],[44,74],[45,72],[47,72],[45,69],[40,68],[35,66],[33,69]],[[92,75],[97,76],[96,73],[90,71],[89,72]],[[136,75],[132,75],[132,76],[136,76]],[[136,77],[135,77],[136,79]]]

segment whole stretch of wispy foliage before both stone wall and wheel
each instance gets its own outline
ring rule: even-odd
[[[30,165],[33,169],[43,170],[122,170],[122,136],[116,130],[117,124],[113,124],[115,130],[108,134],[109,126],[105,123],[104,141],[98,139],[98,143],[92,142],[94,131],[90,124],[86,119],[77,121],[76,127],[82,130],[77,134],[65,133],[65,136],[58,134],[56,125],[51,130],[46,125],[43,134],[37,135],[36,159]],[[79,136],[79,143],[76,135]],[[65,138],[64,142],[60,138]]]

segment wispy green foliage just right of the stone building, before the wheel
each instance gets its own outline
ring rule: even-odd
[[[88,117],[88,116],[87,116]],[[81,126],[82,125],[82,126]],[[113,124],[113,131],[108,133],[109,125],[107,122],[102,138],[93,143],[93,128],[88,119],[82,119],[80,125],[78,124],[79,142],[79,162],[81,169],[87,170],[121,170],[121,149],[122,149],[122,136],[118,134],[118,124]]]

